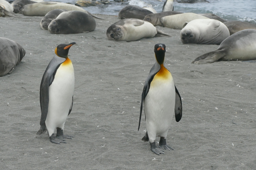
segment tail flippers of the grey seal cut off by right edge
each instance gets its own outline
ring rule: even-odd
[[[206,64],[206,63],[213,63],[214,61],[219,60],[220,58],[224,57],[226,53],[222,50],[216,50],[209,53],[205,53],[199,57],[197,57],[192,64]]]

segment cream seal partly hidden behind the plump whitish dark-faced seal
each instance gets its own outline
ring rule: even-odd
[[[163,27],[181,30],[186,22],[190,22],[194,19],[209,18],[195,13],[182,13],[163,17],[160,19],[160,23],[162,24]]]

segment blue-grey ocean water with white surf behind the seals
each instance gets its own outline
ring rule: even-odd
[[[75,4],[77,0],[56,0],[58,2]],[[83,7],[93,14],[118,15],[126,5],[140,7],[153,7],[157,12],[162,12],[165,0],[130,0],[117,3],[109,0],[111,4]],[[174,0],[174,11],[193,13],[213,13],[228,21],[240,20],[256,24],[256,0],[208,0],[193,4],[177,3]]]

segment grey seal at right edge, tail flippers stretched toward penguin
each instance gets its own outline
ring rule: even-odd
[[[256,30],[246,29],[230,35],[217,50],[197,57],[192,63],[206,64],[217,60],[247,61],[256,59]]]

